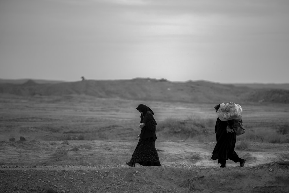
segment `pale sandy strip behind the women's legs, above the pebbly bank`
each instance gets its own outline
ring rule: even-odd
[[[131,158],[135,141],[1,141],[0,165],[8,166],[120,166]],[[157,141],[160,162],[165,166],[218,166],[210,160],[215,143],[190,141]],[[236,150],[246,159],[246,166],[257,166],[286,159],[288,144],[255,143],[252,150]],[[227,161],[227,166],[236,163]]]

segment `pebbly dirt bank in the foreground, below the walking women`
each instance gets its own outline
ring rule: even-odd
[[[289,166],[0,167],[1,192],[288,192]]]

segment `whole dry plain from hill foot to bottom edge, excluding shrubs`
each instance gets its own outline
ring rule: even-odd
[[[140,103],[152,107],[159,125],[171,117],[216,119],[214,104],[3,95],[0,192],[289,192],[288,143],[252,139],[236,150],[247,160],[243,168],[232,161],[219,168],[210,160],[214,132],[203,140],[160,131],[162,166],[127,166],[138,142]],[[288,105],[242,107],[247,136],[254,123],[288,119]]]

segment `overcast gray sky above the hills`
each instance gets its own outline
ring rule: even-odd
[[[288,0],[0,0],[0,78],[289,83]]]

